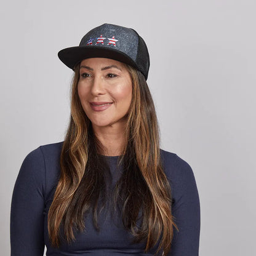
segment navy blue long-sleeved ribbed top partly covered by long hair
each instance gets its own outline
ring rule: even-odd
[[[22,163],[18,174],[10,212],[10,246],[12,256],[86,255],[153,255],[156,246],[145,254],[145,243],[132,244],[131,234],[122,226],[119,214],[111,216],[107,208],[99,216],[100,232],[92,224],[92,215],[86,217],[86,230],[76,234],[70,245],[62,243],[56,249],[50,245],[47,231],[47,213],[60,174],[60,152],[63,142],[39,146]],[[174,228],[172,249],[168,256],[197,256],[200,233],[200,205],[198,189],[190,165],[177,156],[161,150],[164,171],[172,190],[172,214],[179,231]],[[118,156],[110,160],[111,174],[116,182],[121,170]]]

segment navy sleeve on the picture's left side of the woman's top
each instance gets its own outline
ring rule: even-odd
[[[45,166],[41,148],[31,151],[15,182],[10,210],[11,256],[44,254]]]

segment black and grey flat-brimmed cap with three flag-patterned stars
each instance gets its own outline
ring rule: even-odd
[[[90,30],[79,46],[60,50],[58,57],[72,70],[85,58],[111,58],[134,66],[145,79],[150,68],[148,49],[138,33],[132,28],[107,23]]]

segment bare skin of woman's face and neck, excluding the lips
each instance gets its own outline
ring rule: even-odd
[[[87,58],[80,64],[78,95],[95,135],[108,156],[122,152],[124,129],[132,100],[132,81],[126,66],[110,58]],[[113,102],[95,111],[90,102]]]

